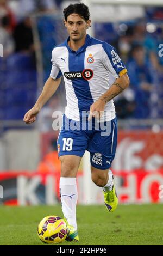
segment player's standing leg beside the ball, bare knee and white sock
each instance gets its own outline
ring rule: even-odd
[[[69,225],[77,230],[76,205],[78,200],[76,175],[82,157],[75,155],[60,156],[61,178],[60,199],[62,212]]]

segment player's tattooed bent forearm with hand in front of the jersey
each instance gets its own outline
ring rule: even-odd
[[[118,77],[109,90],[106,91],[99,99],[94,102],[90,107],[89,120],[92,117],[99,118],[102,116],[105,108],[105,104],[112,100],[115,96],[122,93],[124,89],[129,86],[129,77],[124,74],[121,77]],[[94,112],[94,113],[93,113]]]

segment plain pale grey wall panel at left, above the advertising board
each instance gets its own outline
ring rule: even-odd
[[[23,149],[23,150],[22,150]],[[40,161],[38,130],[9,130],[0,140],[1,170],[35,170]]]

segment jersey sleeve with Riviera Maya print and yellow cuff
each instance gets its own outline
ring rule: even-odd
[[[127,72],[121,58],[118,56],[116,50],[106,42],[102,46],[102,63],[105,68],[111,72],[114,78],[121,77]]]

